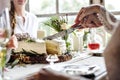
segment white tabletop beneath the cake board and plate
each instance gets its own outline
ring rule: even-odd
[[[85,56],[85,57],[75,57],[70,61],[56,63],[55,65],[60,64],[89,64],[89,65],[98,65],[100,66],[100,70],[95,73],[95,80],[102,80],[103,77],[106,76],[106,68],[103,57],[95,57],[95,56]],[[9,69],[8,72],[5,72],[6,76],[12,78],[12,80],[21,80],[20,78],[25,77],[29,74],[39,71],[41,68],[48,66],[48,64],[28,64],[26,67],[15,66],[13,69]]]

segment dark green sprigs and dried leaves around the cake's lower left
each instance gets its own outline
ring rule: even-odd
[[[26,57],[45,57],[46,56],[46,53],[42,53],[42,54],[39,54],[37,53],[36,51],[26,51],[25,49],[22,49],[22,51],[20,52],[14,52],[14,50],[12,50],[12,56],[9,60],[9,62],[6,64],[7,67],[9,68],[14,68],[16,65],[19,65],[19,66],[23,66],[25,67],[25,64],[26,63],[31,63],[31,61],[27,61],[25,60]]]

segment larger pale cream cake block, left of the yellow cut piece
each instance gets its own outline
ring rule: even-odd
[[[27,41],[19,41],[18,42],[18,48],[15,50],[15,52],[20,52],[22,49],[26,51],[35,51],[38,54],[47,53],[46,52],[46,44],[43,40],[36,40],[35,42],[27,42]]]

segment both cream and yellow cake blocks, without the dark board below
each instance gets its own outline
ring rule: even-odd
[[[25,40],[18,42],[18,48],[15,52],[35,51],[38,54],[57,54],[62,55],[66,52],[66,44],[64,40],[35,40],[35,42],[27,42]]]

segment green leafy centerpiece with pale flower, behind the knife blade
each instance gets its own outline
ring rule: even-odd
[[[56,32],[66,30],[70,27],[68,26],[67,19],[59,16],[52,16],[49,20],[44,22],[44,25],[51,27]],[[71,45],[71,43],[68,41],[68,37],[69,37],[69,34],[62,37],[62,39],[65,40],[67,52],[70,51],[70,45]]]

